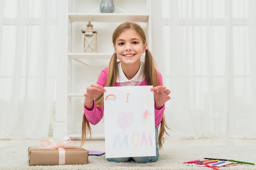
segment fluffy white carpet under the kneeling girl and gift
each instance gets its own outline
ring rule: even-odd
[[[234,159],[256,163],[256,145],[254,146],[168,146],[160,151],[160,157],[154,163],[114,163],[105,159],[105,155],[89,156],[87,165],[28,166],[27,148],[29,146],[9,146],[0,148],[0,170],[211,170],[207,167],[187,166],[185,161],[212,157]],[[87,149],[101,150],[104,146],[90,145]],[[221,170],[256,170],[253,165],[220,167]]]

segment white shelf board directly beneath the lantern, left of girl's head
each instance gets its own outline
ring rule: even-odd
[[[68,53],[70,59],[110,59],[113,53]]]

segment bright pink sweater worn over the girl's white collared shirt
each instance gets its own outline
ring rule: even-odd
[[[162,75],[158,73],[159,76],[159,85],[163,85],[163,79]],[[105,87],[106,82],[107,82],[107,76],[108,76],[108,67],[106,67],[104,70],[101,71],[101,74],[99,75],[97,84]],[[147,85],[146,80],[140,84],[140,85]],[[119,83],[115,83],[115,86],[121,86]],[[86,119],[91,123],[91,124],[97,124],[99,121],[103,118],[103,111],[104,107],[96,107],[96,102],[93,100],[93,108],[92,110],[88,110],[84,107],[84,113]],[[163,118],[163,113],[164,113],[165,106],[163,106],[161,109],[157,110],[155,109],[155,127],[159,127],[159,124],[162,122]]]

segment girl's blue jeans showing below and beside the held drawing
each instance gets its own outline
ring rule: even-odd
[[[111,162],[127,162],[130,159],[133,159],[137,163],[148,163],[148,162],[155,162],[159,158],[159,150],[158,150],[158,144],[157,144],[157,139],[158,139],[158,128],[155,128],[155,147],[156,147],[156,156],[151,156],[151,157],[124,157],[124,158],[107,158],[108,161]]]

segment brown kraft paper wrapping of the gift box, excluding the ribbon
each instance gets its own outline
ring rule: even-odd
[[[58,149],[29,147],[28,151],[29,166],[59,165]],[[87,164],[88,153],[88,150],[79,147],[65,149],[65,165]]]

